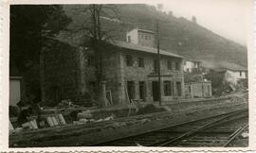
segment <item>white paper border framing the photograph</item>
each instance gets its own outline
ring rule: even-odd
[[[247,62],[249,85],[249,146],[248,147],[31,147],[9,148],[9,6],[18,4],[147,4],[168,3],[168,0],[3,0],[1,1],[0,25],[0,150],[1,151],[34,151],[34,152],[253,152],[256,151],[256,7],[254,0],[244,0],[248,3],[247,9]],[[253,11],[254,10],[254,11]],[[254,40],[253,40],[254,39]]]

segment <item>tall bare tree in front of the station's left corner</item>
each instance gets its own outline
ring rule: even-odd
[[[102,21],[121,24],[119,18],[119,10],[114,5],[93,4],[87,7],[78,6],[74,8],[77,12],[84,14],[82,25],[73,29],[73,35],[82,34],[82,46],[92,48],[95,55],[95,68],[98,86],[98,95],[101,95],[101,82],[105,80],[102,70],[102,54],[107,46],[107,43],[114,42],[113,31],[115,27],[102,26]],[[101,96],[98,100],[101,100]]]

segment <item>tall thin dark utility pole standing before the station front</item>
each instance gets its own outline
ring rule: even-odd
[[[156,43],[157,43],[157,65],[158,65],[158,96],[159,96],[159,105],[162,105],[162,97],[161,97],[161,66],[160,66],[160,42],[159,42],[159,21],[156,19]]]

